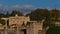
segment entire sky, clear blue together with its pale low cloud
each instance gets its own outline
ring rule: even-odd
[[[60,9],[60,0],[0,0],[0,9],[14,10],[14,9]]]

